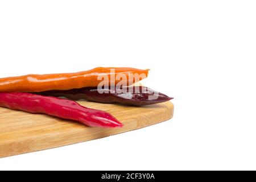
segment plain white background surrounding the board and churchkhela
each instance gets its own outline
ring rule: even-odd
[[[174,118],[0,169],[256,169],[255,1],[1,1],[0,77],[150,68]],[[1,116],[0,116],[1,117]]]

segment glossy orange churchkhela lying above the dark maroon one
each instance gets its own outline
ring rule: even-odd
[[[114,70],[114,73],[111,72]],[[122,73],[122,74],[121,74]],[[118,75],[119,74],[119,75]],[[129,75],[144,75],[144,77],[131,77]],[[43,92],[47,90],[69,90],[98,86],[104,78],[108,78],[109,85],[117,84],[120,76],[125,76],[127,85],[147,77],[148,69],[135,68],[103,68],[98,67],[89,71],[78,73],[59,73],[49,75],[25,75],[18,77],[0,78],[0,92]],[[100,76],[102,79],[98,79]],[[110,80],[113,80],[110,82]],[[106,81],[106,80],[105,80]]]

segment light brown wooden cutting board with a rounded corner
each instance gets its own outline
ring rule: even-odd
[[[171,119],[174,111],[171,102],[143,107],[87,101],[79,101],[79,104],[108,111],[125,126],[117,129],[92,128],[44,114],[0,107],[0,158],[140,129]]]

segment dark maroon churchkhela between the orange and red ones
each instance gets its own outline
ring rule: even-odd
[[[123,92],[123,89],[125,92]],[[118,103],[134,106],[157,104],[172,99],[163,93],[156,92],[155,90],[144,86],[133,86],[130,89],[128,87],[120,89],[116,89],[115,87],[101,89],[97,89],[97,87],[86,87],[72,90],[51,90],[37,94],[66,97],[70,100],[88,100],[94,102]]]

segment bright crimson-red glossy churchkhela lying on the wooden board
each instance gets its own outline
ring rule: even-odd
[[[55,117],[72,119],[92,127],[122,127],[112,115],[105,111],[89,109],[75,101],[38,94],[0,92],[0,106],[28,113],[43,113]]]

